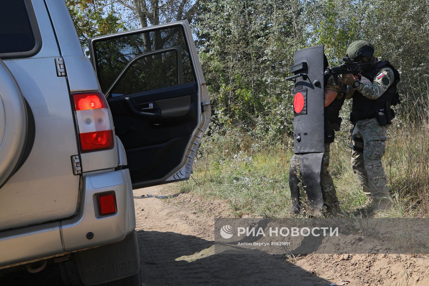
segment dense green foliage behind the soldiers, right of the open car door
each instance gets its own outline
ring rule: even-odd
[[[410,98],[416,84],[427,87],[428,7],[427,1],[410,5],[404,0],[203,3],[197,43],[214,109],[254,136],[282,140],[293,120],[291,85],[284,82],[293,52],[325,45],[330,63],[339,64],[358,39],[372,42],[375,55],[399,69],[399,91]],[[403,100],[402,119],[417,120],[428,105],[426,97],[414,99]],[[347,103],[343,117],[349,108]]]

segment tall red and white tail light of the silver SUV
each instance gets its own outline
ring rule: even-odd
[[[110,149],[114,146],[109,109],[99,91],[73,93],[82,152]]]

